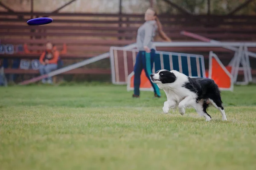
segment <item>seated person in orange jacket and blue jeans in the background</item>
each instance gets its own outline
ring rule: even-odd
[[[59,52],[57,50],[54,50],[52,48],[52,44],[48,42],[46,44],[46,51],[43,52],[43,54],[40,56],[40,63],[39,66],[39,72],[41,75],[48,74],[51,71],[54,71],[57,69],[57,63],[58,63],[58,57]],[[49,77],[47,79],[42,79],[43,83],[50,83],[52,84],[52,77]]]

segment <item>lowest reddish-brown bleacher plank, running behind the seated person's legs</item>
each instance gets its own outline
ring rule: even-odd
[[[5,68],[5,74],[39,74],[38,70],[25,70],[25,69],[14,69],[14,68]],[[111,74],[110,69],[100,69],[100,68],[76,68],[62,74]]]

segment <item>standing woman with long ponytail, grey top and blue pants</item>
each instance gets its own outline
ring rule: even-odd
[[[144,69],[146,76],[149,78],[152,73],[155,49],[152,46],[152,41],[157,32],[160,37],[165,41],[171,41],[169,37],[162,30],[162,24],[157,18],[157,13],[153,8],[148,8],[145,12],[145,23],[140,26],[137,32],[137,49],[139,53],[136,57],[136,63],[134,65],[134,94],[133,97],[140,97],[140,74]],[[156,84],[151,82],[154,88],[154,96],[160,97],[160,91]]]

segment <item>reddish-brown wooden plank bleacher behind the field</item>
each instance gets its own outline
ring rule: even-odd
[[[30,16],[52,17],[53,23],[28,26]],[[67,64],[87,59],[109,51],[111,46],[124,46],[135,42],[138,27],[144,22],[138,14],[81,14],[81,13],[29,13],[0,12],[0,42],[2,44],[27,44],[35,54],[0,54],[1,58],[39,59],[46,42],[57,45],[58,50],[67,45],[67,54],[61,59]],[[64,18],[64,19],[63,19]],[[190,31],[219,41],[256,41],[256,17],[253,16],[185,16],[161,15],[164,31],[174,41],[195,41],[180,34]],[[224,48],[159,48],[163,51],[204,54],[210,50],[221,59],[230,60],[233,52]],[[256,49],[249,49],[256,52]],[[207,65],[206,65],[207,66]],[[8,68],[9,74],[38,74],[34,70]],[[253,71],[254,73],[255,71]],[[77,68],[65,74],[110,74],[110,68]]]

